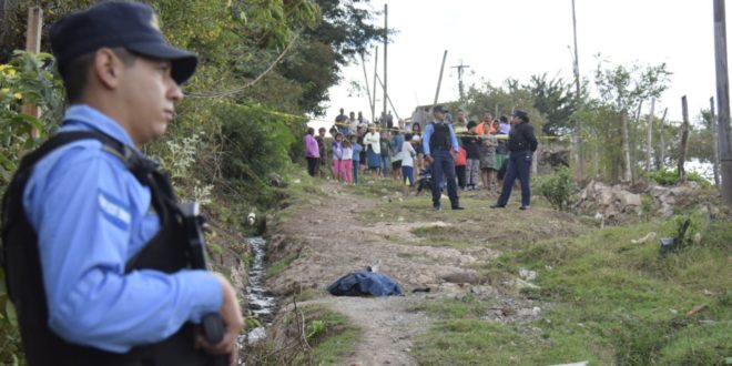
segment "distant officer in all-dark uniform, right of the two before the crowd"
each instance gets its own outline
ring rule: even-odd
[[[528,210],[531,204],[531,189],[529,179],[531,173],[531,156],[539,145],[533,126],[529,123],[529,115],[521,110],[514,112],[514,128],[508,134],[508,166],[504,177],[504,189],[498,202],[491,209],[504,209],[511,196],[511,189],[516,177],[521,181],[521,206]]]

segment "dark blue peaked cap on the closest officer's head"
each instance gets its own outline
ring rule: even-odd
[[[103,47],[123,47],[132,53],[171,61],[171,74],[184,83],[199,64],[195,53],[172,47],[160,31],[157,16],[146,4],[108,1],[55,22],[51,50],[59,70],[75,58]]]

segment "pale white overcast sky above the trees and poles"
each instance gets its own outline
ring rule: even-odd
[[[576,0],[579,67],[592,78],[596,54],[611,65],[632,62],[668,64],[671,88],[657,102],[655,113],[669,108],[669,119],[681,120],[687,94],[692,120],[715,95],[712,0]],[[443,52],[448,51],[439,102],[458,99],[455,67],[469,65],[467,87],[481,79],[494,85],[507,78],[528,81],[532,74],[560,75],[572,81],[571,0],[395,0],[388,1],[389,28],[398,31],[388,47],[388,93],[400,118],[435,98]],[[373,1],[374,10],[384,2]],[[728,18],[730,18],[728,4]],[[730,18],[732,21],[732,18]],[[384,19],[377,22],[383,26]],[[729,30],[728,30],[729,32]],[[730,34],[732,35],[732,34]],[[383,77],[383,45],[379,45]],[[366,60],[373,83],[374,55]],[[345,69],[343,81],[331,89],[326,120],[338,109],[363,111],[370,119],[368,98],[349,95],[352,81],[364,83],[362,65]],[[373,84],[372,84],[373,87]],[[369,87],[370,88],[370,87]],[[377,115],[382,111],[377,92]],[[390,110],[390,106],[388,108]],[[644,113],[650,101],[644,103]]]

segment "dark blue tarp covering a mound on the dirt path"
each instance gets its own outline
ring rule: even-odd
[[[403,295],[401,287],[392,277],[375,272],[349,273],[328,286],[335,296],[394,296]]]

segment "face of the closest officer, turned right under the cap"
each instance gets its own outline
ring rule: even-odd
[[[138,145],[165,133],[183,93],[171,77],[171,62],[138,57],[125,69],[121,96],[128,111],[128,132]]]

